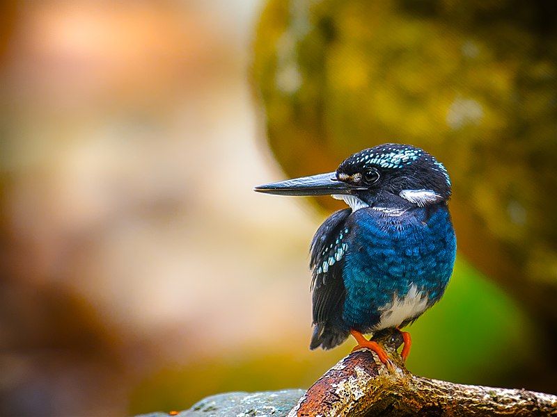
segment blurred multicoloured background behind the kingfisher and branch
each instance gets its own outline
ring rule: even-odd
[[[409,142],[459,254],[408,367],[557,393],[550,1],[0,3],[0,414],[305,388],[308,245],[338,202],[256,195]]]

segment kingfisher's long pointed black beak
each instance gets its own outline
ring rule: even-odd
[[[253,188],[258,193],[278,195],[331,195],[350,194],[352,190],[365,190],[336,179],[336,172],[278,181]]]

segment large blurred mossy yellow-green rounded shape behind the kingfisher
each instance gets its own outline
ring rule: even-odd
[[[383,142],[424,147],[453,179],[466,256],[526,304],[544,297],[557,285],[557,32],[544,4],[269,0],[253,79],[278,161],[296,176]]]

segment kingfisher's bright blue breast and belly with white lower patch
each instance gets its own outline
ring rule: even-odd
[[[419,316],[439,300],[455,261],[456,240],[446,206],[386,216],[371,208],[347,220],[343,279],[345,319],[375,329]],[[380,323],[380,327],[379,327]]]

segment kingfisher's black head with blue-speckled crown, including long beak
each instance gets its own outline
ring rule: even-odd
[[[260,193],[334,195],[354,210],[363,206],[427,206],[450,197],[447,170],[411,145],[387,143],[345,159],[335,172],[265,184]]]

